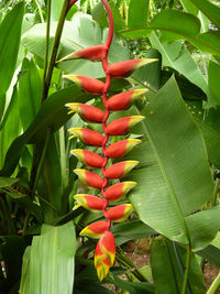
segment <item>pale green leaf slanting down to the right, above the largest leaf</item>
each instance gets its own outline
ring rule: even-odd
[[[179,42],[172,44],[161,43],[154,32],[151,34],[150,40],[153,47],[161,52],[164,66],[176,69],[206,94],[208,92],[207,80],[186,47],[183,47]]]

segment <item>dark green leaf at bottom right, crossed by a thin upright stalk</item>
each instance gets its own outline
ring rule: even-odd
[[[162,237],[154,239],[151,248],[151,266],[156,293],[180,293],[185,263],[186,250],[184,248],[173,244]],[[206,293],[202,272],[197,263],[196,255],[191,252],[188,290],[193,294]]]

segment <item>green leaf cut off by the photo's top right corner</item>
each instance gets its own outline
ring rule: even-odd
[[[217,28],[220,29],[220,8],[212,4],[208,0],[190,0],[190,2],[201,10],[207,18],[209,18]]]

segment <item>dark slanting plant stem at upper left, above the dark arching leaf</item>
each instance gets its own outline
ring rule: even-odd
[[[65,18],[66,18],[68,10],[69,10],[69,0],[65,0],[63,8],[62,8],[61,17],[58,20],[56,34],[54,37],[54,43],[53,43],[53,48],[52,48],[52,54],[51,54],[51,61],[50,61],[48,70],[47,70],[46,79],[45,79],[44,87],[43,87],[42,102],[46,99],[47,94],[48,94],[52,74],[53,74],[53,69],[54,69],[54,64],[55,64],[55,59],[56,59],[56,54],[58,51],[62,31],[64,28]]]

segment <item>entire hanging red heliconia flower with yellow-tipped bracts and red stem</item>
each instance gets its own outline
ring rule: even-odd
[[[85,208],[94,211],[102,211],[106,220],[97,221],[81,230],[80,236],[99,238],[95,252],[95,266],[97,269],[99,280],[108,274],[109,268],[113,265],[116,257],[116,243],[114,237],[110,231],[111,222],[122,221],[127,219],[132,213],[131,204],[118,205],[112,208],[108,208],[109,202],[118,202],[123,198],[135,185],[135,182],[120,182],[118,184],[109,185],[109,179],[120,179],[125,176],[134,166],[139,164],[138,161],[122,161],[116,164],[108,165],[109,159],[123,157],[130,152],[141,140],[127,139],[107,146],[110,135],[124,135],[131,128],[140,122],[144,117],[130,116],[121,119],[117,119],[107,124],[110,111],[118,111],[128,109],[135,99],[142,98],[146,89],[135,89],[125,92],[108,97],[108,90],[111,84],[111,77],[120,78],[129,76],[133,70],[139,67],[154,62],[156,59],[131,59],[125,62],[116,63],[109,65],[108,53],[113,37],[113,17],[111,9],[107,0],[101,0],[109,18],[109,33],[105,44],[84,48],[69,54],[64,57],[63,61],[86,58],[91,62],[101,62],[103,70],[106,73],[106,83],[100,80],[77,76],[66,75],[64,77],[76,83],[81,89],[91,94],[102,95],[102,102],[106,111],[101,109],[88,106],[84,104],[67,104],[69,113],[77,112],[84,120],[102,123],[103,134],[92,131],[86,128],[72,128],[69,132],[81,140],[87,145],[100,146],[102,149],[102,156],[88,150],[76,149],[72,150],[72,153],[82,162],[84,165],[94,168],[101,168],[102,177],[98,174],[87,170],[75,170],[79,179],[96,189],[101,190],[102,197],[77,194],[74,196],[77,206],[84,206]],[[76,1],[74,1],[76,2]]]

